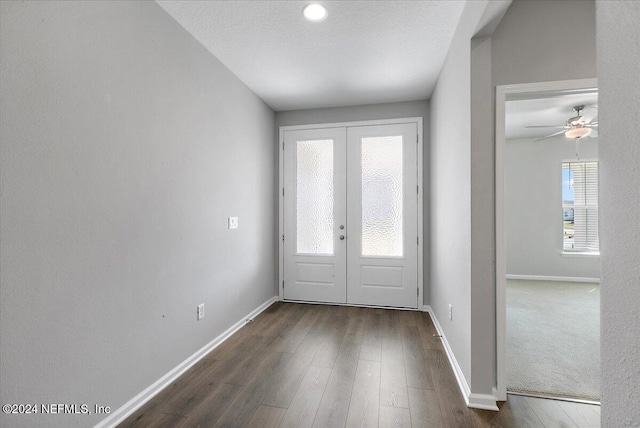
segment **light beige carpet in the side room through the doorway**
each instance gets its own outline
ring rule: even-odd
[[[507,389],[600,400],[599,284],[507,280]]]

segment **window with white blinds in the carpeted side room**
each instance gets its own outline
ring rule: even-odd
[[[598,162],[562,163],[562,249],[598,253]]]

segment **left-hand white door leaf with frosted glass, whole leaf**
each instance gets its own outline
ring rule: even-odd
[[[283,137],[283,297],[345,303],[346,130]]]

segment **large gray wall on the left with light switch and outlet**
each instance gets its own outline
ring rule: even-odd
[[[0,401],[117,409],[276,295],[274,113],[154,2],[0,3]]]

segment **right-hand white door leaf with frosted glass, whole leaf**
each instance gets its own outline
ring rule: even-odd
[[[418,307],[416,123],[347,128],[347,303]]]

